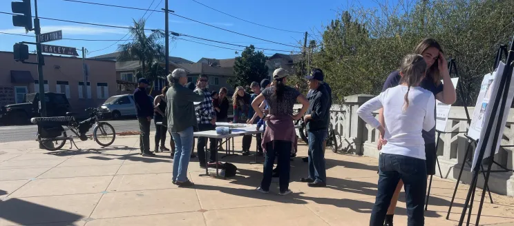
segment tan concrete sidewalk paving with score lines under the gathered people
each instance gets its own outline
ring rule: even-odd
[[[178,188],[171,183],[169,153],[142,157],[138,142],[137,136],[117,136],[111,147],[79,141],[83,150],[57,152],[39,150],[36,141],[0,143],[0,225],[369,224],[377,159],[327,150],[328,186],[312,188],[299,182],[307,174],[307,163],[295,158],[289,186],[294,194],[278,196],[278,183],[270,194],[254,190],[263,168],[249,164],[254,156],[220,158],[238,167],[238,175],[228,180],[198,176],[202,169],[193,158],[189,179],[196,185]],[[240,139],[235,146],[240,150]],[[305,144],[298,150],[298,156],[307,156]],[[446,220],[455,182],[434,178],[426,225],[457,225],[468,186],[459,186]],[[475,196],[473,225],[481,194]],[[394,217],[397,226],[406,225],[403,196]],[[493,199],[495,204],[486,198],[481,225],[514,225],[514,198],[493,194]]]

